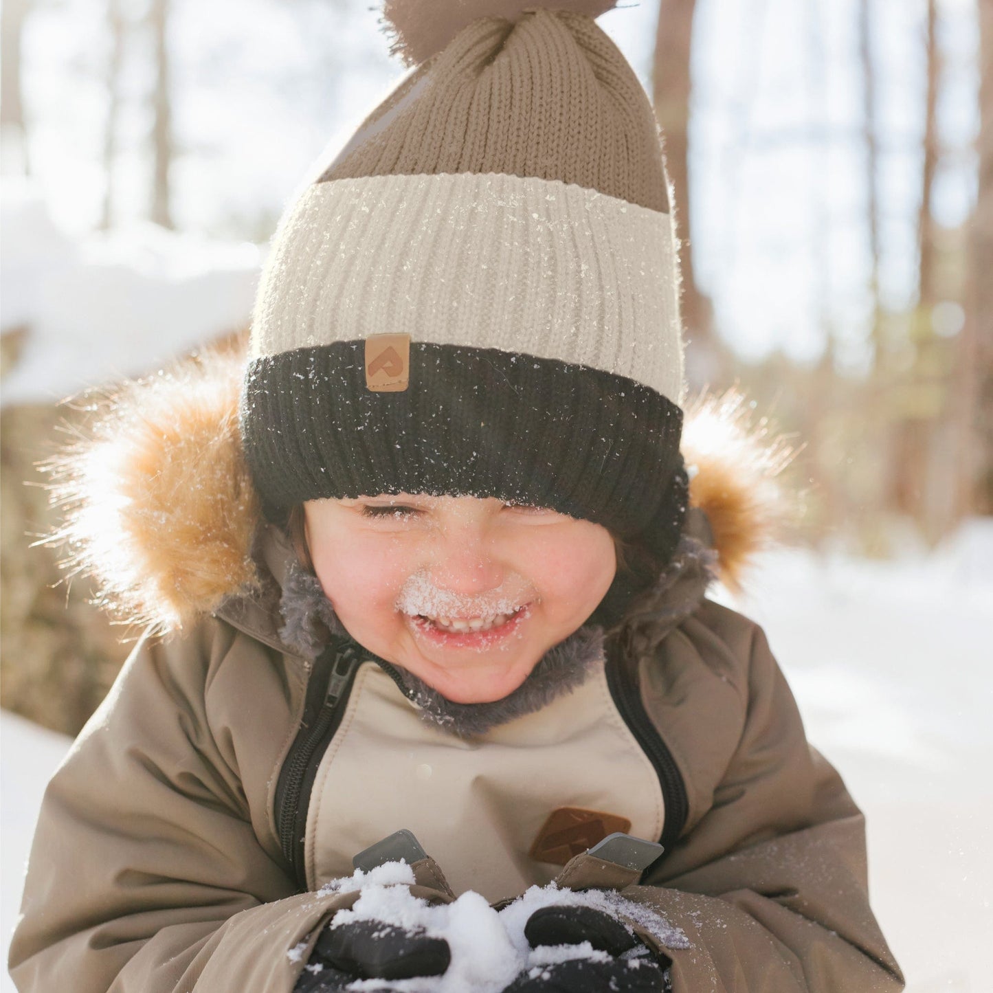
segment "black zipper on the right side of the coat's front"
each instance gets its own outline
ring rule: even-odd
[[[689,801],[686,796],[686,784],[683,782],[679,767],[668,746],[662,740],[654,724],[651,723],[644,702],[641,700],[641,690],[638,680],[632,673],[626,671],[626,659],[616,640],[611,638],[607,647],[607,686],[614,698],[625,724],[631,728],[632,734],[638,740],[638,745],[654,767],[658,783],[662,788],[662,800],[665,804],[665,820],[662,824],[662,836],[659,844],[668,854],[672,845],[682,833],[686,816],[689,812]],[[661,856],[661,857],[664,857]]]

